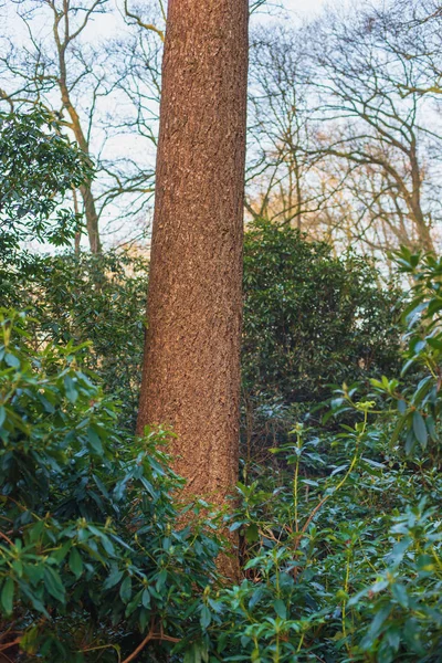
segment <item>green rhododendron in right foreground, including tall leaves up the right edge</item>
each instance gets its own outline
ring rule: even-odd
[[[407,251],[400,261],[415,282],[404,369],[419,365],[418,381],[372,379],[372,394],[360,400],[345,387],[333,407],[337,417],[351,409],[352,427],[319,441],[295,425],[293,442],[273,450],[291,470],[240,484],[232,528],[243,533],[246,578],[224,590],[208,617],[209,650],[223,661],[440,661],[441,369],[433,339],[442,261]]]

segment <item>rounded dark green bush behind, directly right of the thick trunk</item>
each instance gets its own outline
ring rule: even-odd
[[[364,257],[262,221],[245,234],[243,438],[252,456],[284,441],[293,418],[399,367],[399,291]],[[263,450],[264,446],[264,450]]]

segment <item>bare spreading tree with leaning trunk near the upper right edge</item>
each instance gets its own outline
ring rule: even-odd
[[[442,157],[441,137],[430,106],[415,92],[421,67],[391,52],[389,35],[376,29],[377,20],[372,12],[354,14],[351,21],[328,14],[327,22],[316,22],[308,31],[311,80],[323,120],[315,152],[346,162],[362,178],[367,170],[376,176],[380,222],[401,243],[432,251],[439,209],[430,182]],[[367,200],[372,220],[372,193]]]

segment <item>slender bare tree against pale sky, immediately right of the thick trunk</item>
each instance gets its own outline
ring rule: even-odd
[[[297,227],[313,202],[305,188],[312,160],[304,158],[308,112],[302,65],[293,32],[261,29],[253,34],[245,206],[253,218]]]

